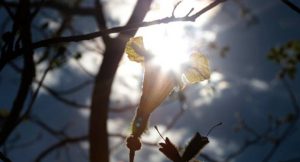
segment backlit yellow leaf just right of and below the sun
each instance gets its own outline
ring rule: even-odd
[[[209,79],[210,68],[208,59],[200,53],[192,54],[190,57],[190,65],[188,65],[184,76],[191,84]]]

